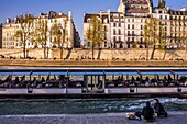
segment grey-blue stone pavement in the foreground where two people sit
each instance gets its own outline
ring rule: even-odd
[[[61,114],[61,115],[1,115],[0,124],[144,124],[130,121],[125,113]],[[187,112],[169,112],[167,119],[156,119],[152,124],[187,124]]]

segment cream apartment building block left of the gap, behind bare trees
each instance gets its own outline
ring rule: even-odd
[[[63,29],[66,29],[66,37],[63,44],[64,48],[73,48],[77,47],[76,45],[80,42],[77,40],[75,35],[77,30],[75,27],[72,12],[69,11],[67,14],[65,13],[57,13],[54,11],[50,11],[48,13],[40,13],[38,16],[34,16],[34,25],[36,25],[37,20],[45,20],[47,22],[47,40],[46,40],[46,47],[58,47],[55,43],[55,36],[52,35],[52,27],[55,23]],[[65,27],[64,27],[65,26]],[[16,38],[15,32],[20,30],[19,16],[14,20],[7,19],[7,22],[2,24],[2,48],[22,48],[23,45],[20,44],[20,40]],[[76,41],[75,41],[76,40]],[[26,41],[26,48],[42,48],[42,44],[35,44],[32,40]]]

